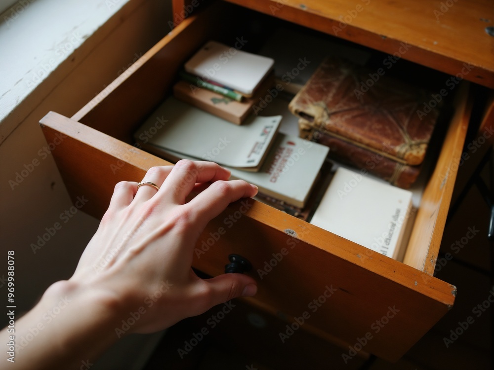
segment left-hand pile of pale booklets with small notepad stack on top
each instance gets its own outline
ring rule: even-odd
[[[233,50],[214,41],[201,48],[185,63],[174,96],[150,115],[134,138],[142,148],[172,162],[216,162],[231,171],[232,179],[257,185],[260,196],[271,199],[271,203],[303,209],[329,148],[280,133],[281,115],[239,117],[234,110],[225,109],[234,103],[251,107],[254,96],[269,81],[273,66],[272,59]],[[207,83],[221,85],[222,89],[228,86],[229,92],[241,94],[240,101],[218,103],[227,97],[196,86],[197,81],[206,79]],[[161,117],[160,122],[155,117]]]

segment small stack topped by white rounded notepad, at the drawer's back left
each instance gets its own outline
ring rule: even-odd
[[[235,124],[274,85],[274,60],[209,41],[180,72],[173,86],[178,99]]]

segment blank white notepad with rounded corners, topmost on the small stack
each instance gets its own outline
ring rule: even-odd
[[[271,58],[209,41],[185,63],[184,68],[206,82],[218,82],[250,96],[273,65]]]

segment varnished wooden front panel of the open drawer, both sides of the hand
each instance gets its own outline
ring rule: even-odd
[[[63,135],[53,156],[73,198],[88,199],[84,211],[95,217],[103,215],[117,182],[140,181],[149,167],[167,163],[57,113],[41,126],[48,143]],[[308,311],[306,329],[352,345],[370,332],[364,350],[388,360],[400,358],[454,301],[450,284],[251,199],[232,203],[208,224],[193,265],[215,276],[231,253],[254,266],[259,292],[251,301],[288,318]],[[336,292],[312,312],[310,302],[327,287]],[[375,333],[372,324],[393,307],[399,312]]]

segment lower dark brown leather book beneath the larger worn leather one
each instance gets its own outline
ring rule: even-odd
[[[328,133],[314,131],[311,129],[310,122],[304,119],[300,119],[298,125],[300,136],[329,147],[329,158],[358,169],[365,169],[370,174],[388,181],[391,185],[408,189],[420,173],[420,166],[406,165],[379,153],[350,144]]]

